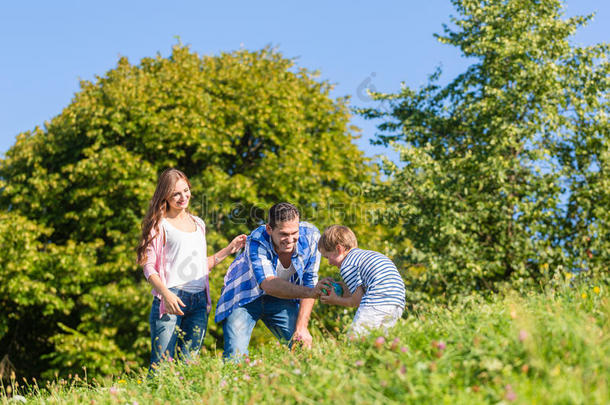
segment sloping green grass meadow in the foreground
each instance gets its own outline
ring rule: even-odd
[[[408,314],[387,336],[320,336],[312,350],[268,344],[245,362],[205,351],[192,364],[93,382],[2,388],[27,403],[605,404],[610,402],[605,286],[562,287]]]

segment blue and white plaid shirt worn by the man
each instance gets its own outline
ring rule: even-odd
[[[290,282],[313,288],[318,282],[320,231],[308,222],[299,223],[299,240],[292,254],[296,270]],[[265,225],[256,228],[246,242],[245,251],[229,266],[214,320],[222,322],[233,309],[244,306],[265,294],[260,284],[269,276],[277,276],[278,255]]]

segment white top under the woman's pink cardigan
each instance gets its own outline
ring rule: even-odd
[[[197,225],[195,232],[185,232],[165,218],[161,224],[166,232],[166,287],[178,287],[191,293],[205,290],[205,277],[208,274],[205,234]]]

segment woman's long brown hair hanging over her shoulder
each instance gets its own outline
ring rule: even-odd
[[[178,169],[166,169],[159,176],[159,180],[157,180],[157,188],[148,205],[148,212],[142,220],[142,235],[140,236],[140,242],[138,243],[137,248],[138,264],[144,264],[144,262],[146,262],[146,248],[152,241],[151,231],[154,229],[155,234],[159,234],[159,222],[169,209],[167,200],[174,192],[176,183],[180,179],[186,181],[186,184],[191,188],[189,179]]]

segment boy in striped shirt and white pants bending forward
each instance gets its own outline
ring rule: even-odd
[[[405,284],[392,261],[381,253],[358,249],[356,235],[347,226],[332,225],[324,230],[318,250],[331,266],[340,269],[345,281],[343,296],[331,286],[332,278],[318,285],[329,294],[321,295],[325,304],[358,307],[350,333],[361,336],[371,329],[394,326],[405,307]]]

